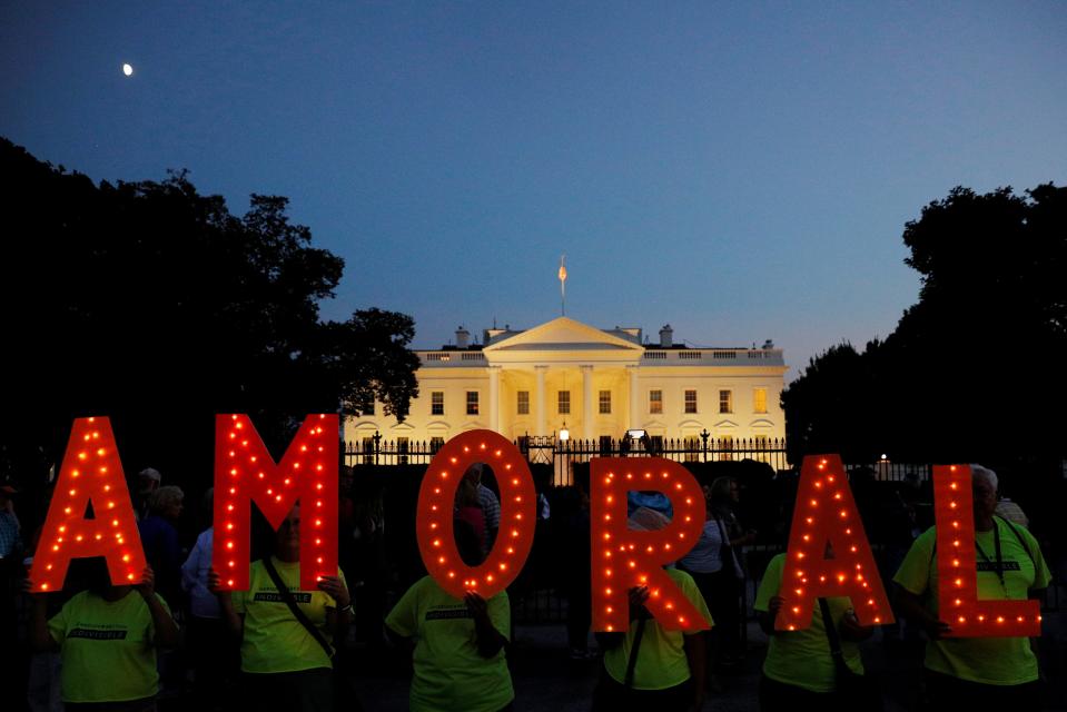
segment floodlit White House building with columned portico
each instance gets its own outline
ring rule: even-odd
[[[348,443],[444,443],[474,428],[505,437],[620,438],[643,429],[652,438],[718,441],[784,438],[780,405],[787,370],[782,350],[692,348],[642,343],[639,328],[597,329],[567,317],[526,330],[487,329],[481,345],[460,328],[456,344],[417,350],[417,398],[403,423],[373,413],[349,417]],[[406,449],[406,447],[405,447]]]

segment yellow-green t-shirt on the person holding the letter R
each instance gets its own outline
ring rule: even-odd
[[[714,625],[708,604],[704,603],[704,596],[700,594],[693,577],[676,568],[664,571],[682,594],[696,606],[696,611],[704,617],[708,625]],[[604,653],[604,669],[609,675],[622,684],[626,681],[626,665],[630,662],[634,633],[636,633],[636,622],[630,624],[622,645]],[[655,622],[655,619],[645,621],[641,646],[638,649],[638,662],[633,669],[634,690],[666,690],[682,684],[690,676],[689,660],[685,657],[685,634],[682,631],[664,630]]]

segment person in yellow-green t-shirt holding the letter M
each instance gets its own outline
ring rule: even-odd
[[[344,641],[352,599],[339,568],[336,576],[324,576],[317,590],[300,590],[300,507],[293,507],[275,533],[274,555],[253,562],[248,591],[219,591],[219,581],[213,568],[208,587],[216,592],[223,619],[240,641],[245,705],[293,712],[332,710],[330,641]],[[298,620],[294,607],[307,624]]]

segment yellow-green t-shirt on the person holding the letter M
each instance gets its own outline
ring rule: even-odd
[[[337,607],[334,597],[318,589],[300,591],[299,562],[286,563],[273,556],[270,561],[304,615],[333,642],[333,631],[326,625],[326,609]],[[345,580],[339,568],[337,575]],[[289,611],[261,561],[253,562],[249,568],[248,591],[234,592],[234,610],[245,616],[240,643],[240,669],[245,672],[296,672],[333,666],[323,646]]]

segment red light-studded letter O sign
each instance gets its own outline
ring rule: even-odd
[[[460,558],[452,516],[456,487],[474,463],[485,463],[496,474],[501,526],[488,557],[472,568]],[[493,431],[468,431],[452,438],[434,455],[418,490],[415,534],[426,571],[456,599],[467,591],[483,599],[496,595],[515,580],[530,555],[536,500],[530,465],[507,438]]]

